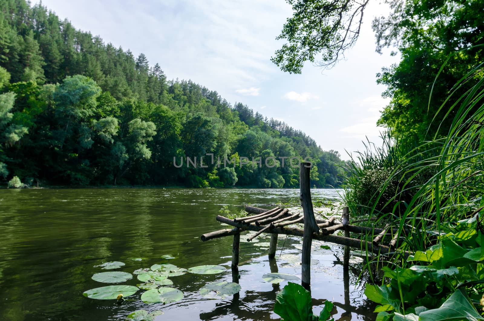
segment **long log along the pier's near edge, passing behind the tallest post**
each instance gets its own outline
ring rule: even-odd
[[[255,224],[243,224],[242,222],[234,222],[233,220],[218,215],[217,216],[217,221],[220,223],[226,223],[228,225],[232,225],[235,227],[240,227],[249,231],[254,231],[258,232],[262,228],[265,228],[265,226],[257,226]],[[274,227],[268,230],[267,233],[274,233],[274,234],[286,234],[286,235],[292,235],[292,236],[299,236],[302,237],[304,234],[304,230],[301,228],[295,228],[295,227]],[[393,250],[390,249],[390,247],[385,246],[385,245],[373,245],[371,241],[362,241],[362,240],[357,240],[357,239],[352,239],[352,238],[345,238],[343,236],[338,236],[338,235],[333,235],[333,234],[313,234],[313,239],[319,240],[319,241],[326,241],[326,242],[332,242],[335,244],[340,244],[340,245],[348,245],[354,248],[362,249],[363,251],[368,251],[372,252],[375,254],[388,254],[393,252]],[[402,251],[398,252],[400,255],[402,255],[404,258],[407,258],[409,255],[413,254],[408,251]]]

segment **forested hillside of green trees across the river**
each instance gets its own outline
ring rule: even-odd
[[[286,123],[231,105],[190,80],[167,80],[144,54],[105,44],[42,5],[0,2],[0,179],[27,184],[338,186],[344,162]],[[126,44],[129,45],[129,44]],[[151,59],[156,59],[153,57]],[[173,158],[261,157],[262,166],[176,168]],[[273,167],[264,159],[273,156]],[[282,166],[282,160],[286,160]]]

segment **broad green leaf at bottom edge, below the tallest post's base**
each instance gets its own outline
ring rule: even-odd
[[[287,321],[310,321],[313,318],[311,293],[289,282],[275,298],[274,313]]]

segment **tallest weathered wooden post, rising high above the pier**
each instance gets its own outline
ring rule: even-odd
[[[301,284],[306,289],[310,289],[311,286],[311,243],[313,240],[313,233],[318,233],[319,231],[319,226],[314,218],[313,202],[311,201],[310,170],[311,163],[301,163],[299,169],[299,183],[301,187],[301,205],[304,212]]]

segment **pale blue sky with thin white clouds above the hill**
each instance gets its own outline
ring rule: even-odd
[[[388,7],[370,1],[356,45],[330,70],[306,63],[301,75],[284,73],[270,61],[283,40],[275,40],[291,7],[284,0],[42,0],[77,29],[151,65],[168,79],[191,79],[234,104],[242,102],[268,118],[285,121],[334,149],[343,159],[364,148],[366,137],[379,144],[376,122],[388,103],[377,85],[382,67],[397,63],[391,48],[375,52],[374,16]],[[347,153],[348,152],[348,153]]]

